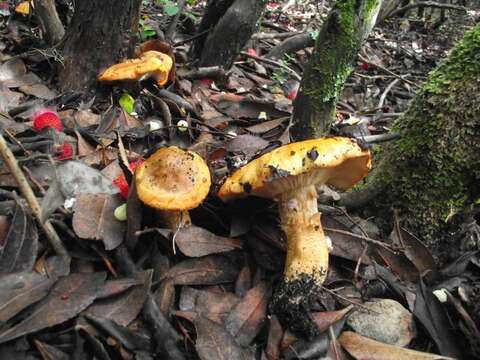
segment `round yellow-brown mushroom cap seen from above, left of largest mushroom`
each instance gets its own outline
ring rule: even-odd
[[[176,146],[157,150],[135,171],[139,199],[158,210],[193,209],[208,195],[210,184],[205,161]]]

